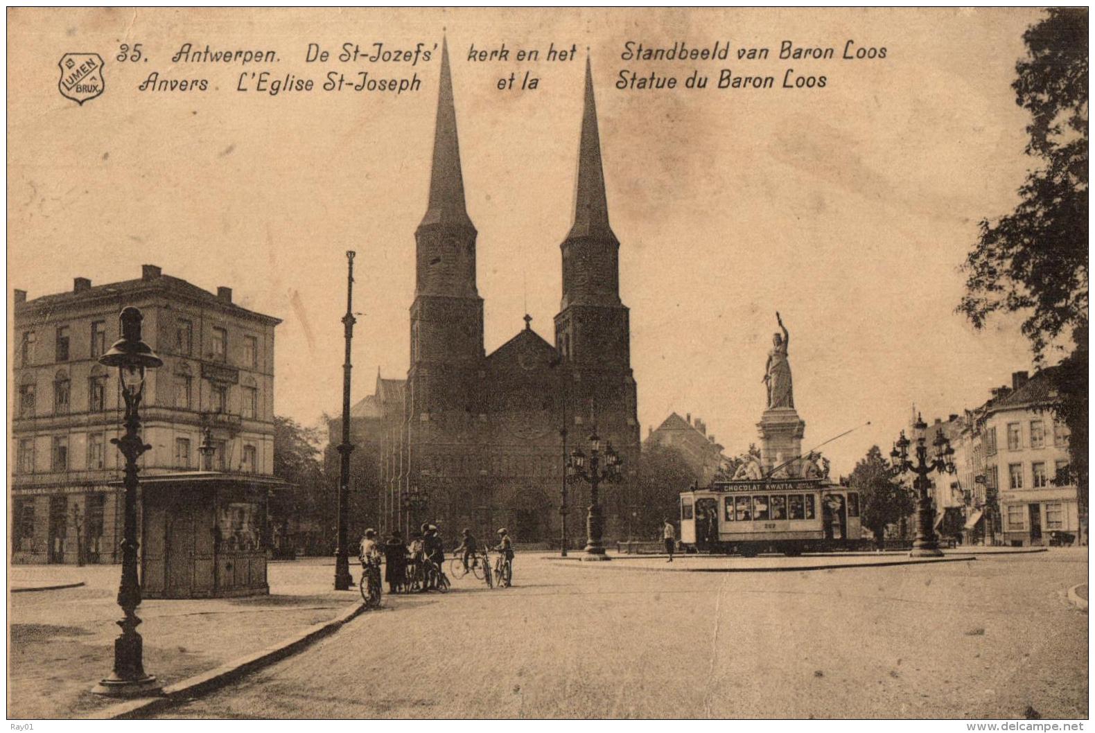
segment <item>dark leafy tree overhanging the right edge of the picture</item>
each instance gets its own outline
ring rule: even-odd
[[[1087,10],[1051,8],[1023,40],[1027,56],[1012,89],[1030,113],[1026,153],[1038,167],[1027,173],[1014,211],[981,221],[958,311],[979,329],[998,311],[1025,314],[1022,331],[1038,364],[1057,340],[1071,340],[1054,373],[1054,411],[1071,431],[1070,465],[1086,515]]]

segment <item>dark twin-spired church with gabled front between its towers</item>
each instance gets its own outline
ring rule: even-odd
[[[565,183],[565,182],[561,182]],[[609,225],[592,77],[587,62],[573,225],[561,243],[563,293],[554,341],[525,328],[492,353],[476,287],[476,228],[463,173],[447,48],[442,48],[426,213],[415,232],[415,291],[406,381],[380,380],[376,497],[381,531],[464,527],[518,543],[561,536],[566,455],[588,452],[596,430],[620,454],[624,479],[604,486],[606,539],[625,522],[638,465],[639,427],[631,370],[629,310],[620,300],[620,242]],[[385,394],[380,394],[381,387]],[[364,423],[362,423],[364,427]],[[371,492],[372,487],[357,487]],[[589,487],[572,485],[570,546],[585,539]]]

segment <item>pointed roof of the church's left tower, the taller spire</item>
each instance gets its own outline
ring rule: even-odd
[[[441,42],[441,78],[437,93],[429,205],[419,225],[442,223],[473,226],[464,206],[464,181],[460,168],[460,143],[457,139],[457,109],[452,101],[448,39]]]

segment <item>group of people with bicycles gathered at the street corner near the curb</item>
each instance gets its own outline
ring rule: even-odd
[[[472,535],[470,530],[461,533],[460,545],[456,547],[453,554],[461,556],[464,570],[468,570],[470,561],[479,552],[479,540]],[[509,533],[505,527],[498,530],[498,545],[494,548],[496,552],[502,552],[507,560],[514,560],[514,546],[509,538]],[[369,561],[384,563],[384,582],[388,583],[391,593],[407,591],[411,589],[412,580],[422,580],[420,591],[435,590],[443,573],[445,544],[437,532],[437,526],[427,523],[422,525],[419,532],[411,535],[411,544],[403,542],[403,535],[399,530],[392,532],[391,536],[383,544],[380,543],[376,530],[365,531],[361,538],[360,552],[358,559],[361,566]],[[434,572],[422,572],[431,567]]]

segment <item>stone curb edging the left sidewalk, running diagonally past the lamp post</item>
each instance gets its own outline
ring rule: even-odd
[[[170,708],[192,697],[211,693],[256,670],[290,656],[311,643],[334,633],[343,625],[357,618],[364,610],[365,605],[357,604],[330,621],[316,624],[301,633],[283,639],[273,647],[267,647],[260,652],[241,656],[208,672],[168,685],[163,688],[160,697],[146,697],[119,702],[97,711],[97,714],[93,717],[104,720],[142,720],[148,713]]]

